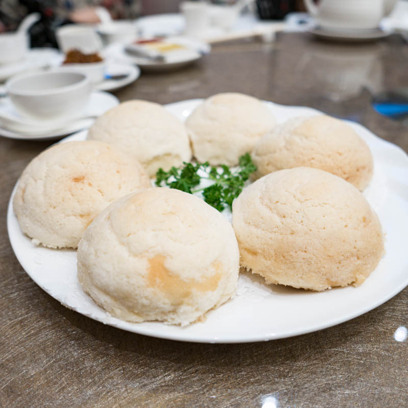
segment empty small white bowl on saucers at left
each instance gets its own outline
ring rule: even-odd
[[[79,117],[91,90],[84,73],[67,70],[22,74],[6,82],[6,91],[18,113],[32,119]]]

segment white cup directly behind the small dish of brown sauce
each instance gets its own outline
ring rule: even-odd
[[[58,46],[62,52],[76,48],[82,53],[96,53],[103,44],[92,25],[68,24],[63,25],[56,33]]]

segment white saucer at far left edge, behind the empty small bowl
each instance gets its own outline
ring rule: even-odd
[[[63,58],[63,55],[55,48],[32,48],[23,60],[0,65],[0,82],[24,71],[59,66]]]

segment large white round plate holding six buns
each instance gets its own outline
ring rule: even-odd
[[[169,104],[184,120],[201,99]],[[279,122],[318,111],[266,103]],[[17,259],[30,277],[66,307],[124,330],[165,339],[205,343],[242,343],[296,336],[342,323],[384,303],[408,285],[408,157],[397,146],[348,122],[368,143],[374,175],[364,195],[377,212],[386,234],[386,255],[358,288],[304,291],[266,285],[261,277],[240,274],[235,297],[207,314],[205,322],[187,327],[159,322],[129,323],[110,316],[84,293],[77,278],[74,250],[35,246],[20,231],[10,198],[7,225]],[[81,132],[64,140],[84,140]]]

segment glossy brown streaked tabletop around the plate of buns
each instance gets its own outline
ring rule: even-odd
[[[238,91],[358,121],[408,151],[406,124],[370,104],[372,94],[408,87],[407,60],[397,35],[335,44],[281,33],[272,43],[219,44],[115,94],[166,104]],[[408,406],[408,288],[340,325],[246,344],[145,337],[63,307],[24,272],[6,227],[18,176],[51,143],[0,138],[1,407]]]

